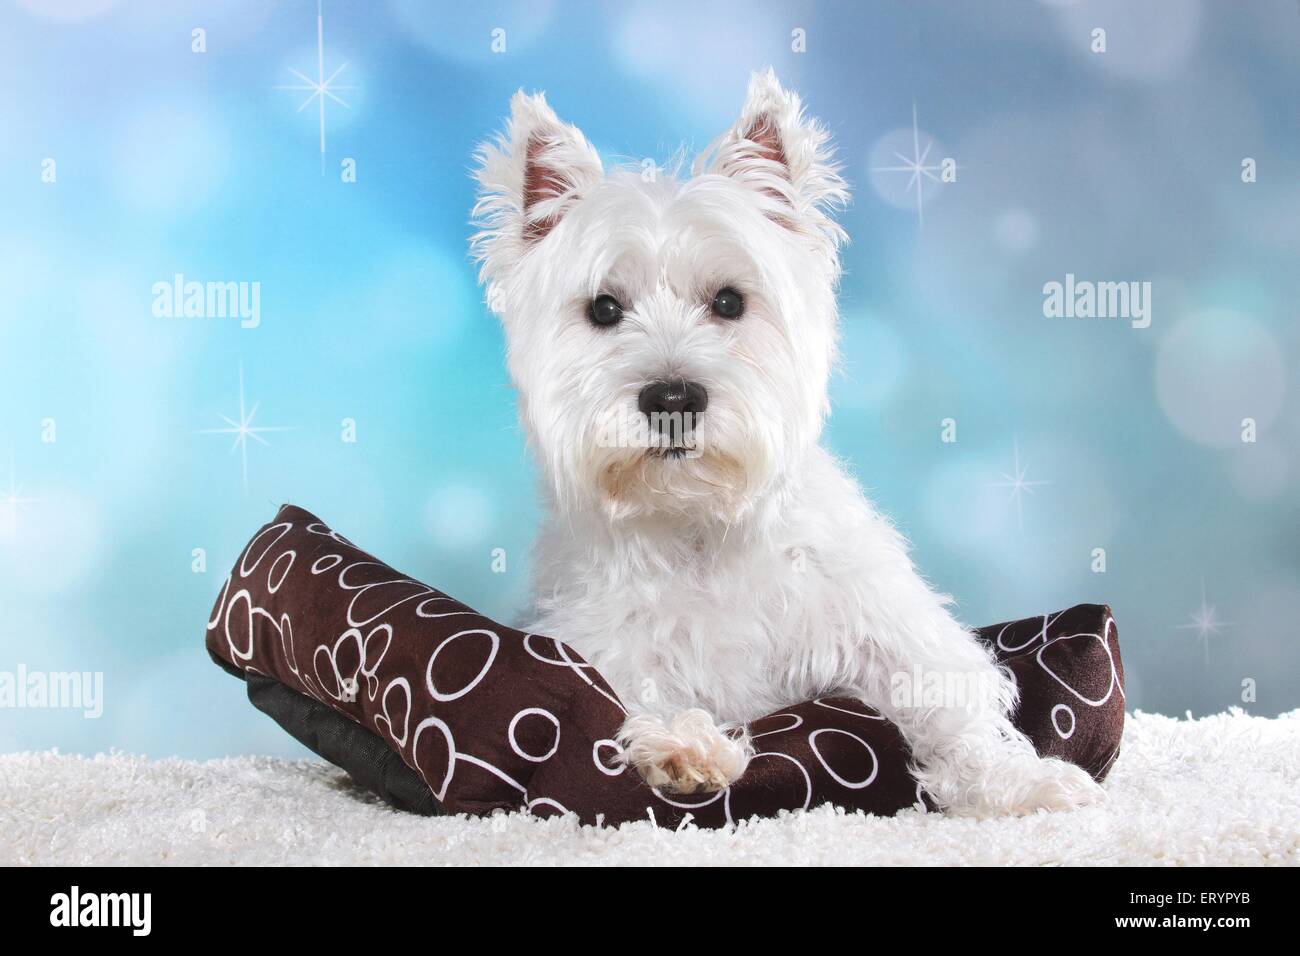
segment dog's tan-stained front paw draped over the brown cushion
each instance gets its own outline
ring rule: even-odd
[[[629,717],[619,732],[625,760],[647,784],[673,793],[724,790],[740,779],[751,749],[723,734],[703,710],[682,710],[671,723],[653,714]]]

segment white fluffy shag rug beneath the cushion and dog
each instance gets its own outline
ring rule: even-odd
[[[734,830],[389,810],[328,765],[0,756],[0,864],[1300,864],[1300,710],[1131,714],[1110,804],[976,822],[828,808]]]

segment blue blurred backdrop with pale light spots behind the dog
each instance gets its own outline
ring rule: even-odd
[[[668,160],[768,64],[855,193],[827,440],[963,619],[1106,601],[1130,708],[1217,711],[1243,680],[1249,710],[1300,705],[1296,3],[326,0],[324,25],[352,88],[322,157],[278,88],[315,75],[315,0],[0,7],[0,671],[105,682],[99,719],[0,710],[0,750],[295,753],[202,646],[283,501],[514,618],[536,473],[467,259],[473,147],[523,86],[607,160]],[[914,107],[959,168],[923,221],[872,172]],[[260,326],[155,316],[177,273],[259,282]],[[1150,328],[1044,317],[1066,273],[1150,281]],[[254,425],[290,429],[247,485],[202,432],[240,372]]]

